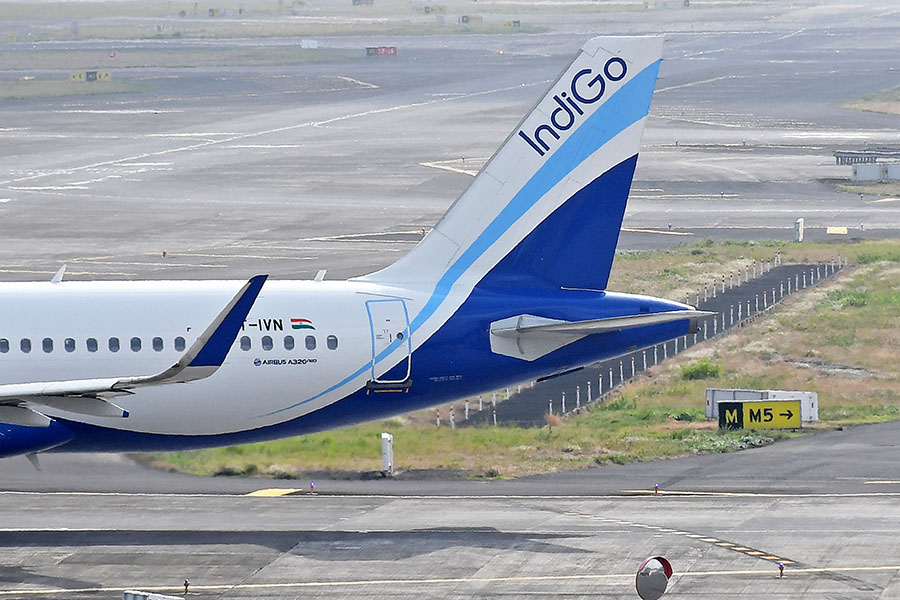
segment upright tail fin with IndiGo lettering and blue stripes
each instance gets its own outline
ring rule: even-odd
[[[408,255],[362,279],[605,289],[662,37],[593,38]]]

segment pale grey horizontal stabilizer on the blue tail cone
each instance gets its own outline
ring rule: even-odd
[[[535,315],[518,315],[491,323],[491,351],[522,360],[536,360],[585,336],[631,327],[694,320],[714,313],[673,310],[621,317],[562,321]]]

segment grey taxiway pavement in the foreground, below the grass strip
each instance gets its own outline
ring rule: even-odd
[[[40,473],[4,460],[0,597],[175,593],[187,578],[198,598],[630,598],[637,565],[663,555],[671,598],[893,598],[898,439],[886,423],[516,481],[317,481],[314,495],[116,456],[45,455]]]

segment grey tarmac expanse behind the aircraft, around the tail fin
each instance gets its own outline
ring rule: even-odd
[[[346,60],[293,66],[116,69],[108,53],[295,39],[0,44],[0,78],[25,74],[2,70],[17,53],[52,47],[96,52],[145,89],[0,102],[2,277],[63,262],[72,278],[344,277],[392,262],[598,33],[668,36],[621,248],[791,239],[798,217],[814,238],[892,235],[898,202],[831,180],[850,176],[835,149],[900,146],[896,115],[842,108],[900,85],[896,9],[694,4],[523,16],[542,34],[322,38]],[[379,44],[399,55],[364,56]],[[670,222],[686,235],[642,231]]]

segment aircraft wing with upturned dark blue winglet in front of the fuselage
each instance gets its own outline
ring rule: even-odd
[[[128,411],[106,398],[131,394],[132,390],[140,387],[187,383],[209,377],[225,361],[267,277],[257,275],[247,281],[191,347],[168,369],[153,375],[0,385],[0,422],[49,426],[50,418],[32,409],[32,405],[94,416],[127,417]]]

